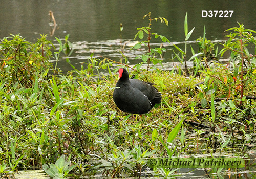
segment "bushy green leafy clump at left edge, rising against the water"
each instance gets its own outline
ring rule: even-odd
[[[32,87],[35,76],[45,78],[52,64],[50,63],[52,43],[41,35],[36,43],[25,40],[22,36],[12,35],[1,40],[0,44],[0,81],[8,86]]]

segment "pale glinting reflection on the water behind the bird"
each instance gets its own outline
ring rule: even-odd
[[[140,59],[135,59],[136,57],[147,53],[148,49],[147,47],[142,47],[139,50],[132,49],[132,47],[137,43],[138,41],[134,41],[132,39],[130,40],[104,40],[104,41],[96,41],[96,42],[88,42],[88,41],[78,41],[73,43],[73,56],[69,57],[69,60],[73,65],[76,66],[76,68],[80,68],[80,62],[87,62],[90,58],[90,55],[93,53],[94,58],[100,58],[103,59],[104,57],[110,58],[112,60],[120,61],[120,59],[126,57],[129,61],[129,64],[131,66],[137,64],[138,62],[141,62]],[[221,43],[223,40],[214,40],[213,43]],[[164,63],[164,69],[165,70],[172,70],[173,66],[176,66],[180,63],[177,63],[176,61],[172,60],[172,49],[174,48],[173,44],[176,44],[177,46],[183,47],[185,42],[172,42],[172,43],[152,43],[151,47],[160,47],[166,49],[164,54],[162,54],[162,57],[159,58]],[[198,47],[196,41],[188,41],[188,46],[193,46],[194,49]],[[57,45],[57,44],[56,44]],[[220,59],[222,61],[223,59]],[[65,60],[64,60],[65,61]],[[188,61],[188,66],[191,67],[193,65],[193,61]],[[63,65],[63,66],[62,66]],[[146,65],[146,64],[145,64]],[[59,64],[61,69],[65,69],[66,62]],[[155,65],[157,68],[162,68],[159,65]],[[146,68],[146,67],[145,67]]]

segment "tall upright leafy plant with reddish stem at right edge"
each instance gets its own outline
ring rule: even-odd
[[[239,87],[236,87],[237,91],[239,91],[241,94],[239,103],[239,105],[241,106],[243,103],[242,99],[244,96],[245,87],[248,86],[246,84],[254,84],[253,79],[255,79],[255,75],[253,73],[253,70],[255,68],[255,55],[253,56],[249,53],[247,46],[249,43],[252,43],[253,46],[255,47],[256,40],[253,37],[252,33],[256,33],[256,31],[245,29],[243,24],[239,24],[239,27],[230,28],[226,31],[231,30],[233,30],[234,32],[231,32],[229,35],[226,35],[226,37],[229,37],[229,40],[223,44],[224,48],[220,51],[220,54],[222,56],[224,52],[226,52],[227,50],[231,51],[230,62],[233,63],[234,71],[232,74],[228,75],[229,78],[233,77],[233,79],[237,79],[239,75],[238,71],[241,71],[241,81],[238,83]],[[238,60],[239,62],[236,63],[236,60]],[[244,74],[244,68],[247,70],[246,74]]]

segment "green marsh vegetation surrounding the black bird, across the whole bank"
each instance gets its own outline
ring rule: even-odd
[[[234,153],[248,158],[255,150],[256,128],[255,31],[239,27],[228,29],[229,38],[218,53],[215,44],[198,39],[198,53],[193,56],[175,46],[173,52],[182,64],[194,61],[192,69],[174,67],[162,71],[164,48],[151,48],[151,35],[163,42],[169,40],[138,28],[140,41],[133,49],[148,47],[138,58],[142,62],[129,68],[113,65],[111,59],[95,59],[93,54],[81,70],[73,67],[62,74],[50,59],[72,53],[68,36],[58,52],[46,35],[35,43],[20,35],[5,37],[0,43],[0,174],[11,175],[23,169],[41,169],[52,177],[101,174],[111,177],[140,176],[147,159],[161,156]],[[188,32],[184,23],[185,41]],[[217,58],[230,53],[228,64]],[[158,54],[158,55],[157,55]],[[69,62],[67,58],[67,62]],[[143,69],[142,64],[147,64]],[[126,66],[130,75],[153,82],[162,93],[162,104],[142,117],[121,112],[112,94],[118,79],[118,68]],[[162,64],[161,64],[162,65]],[[108,70],[108,75],[100,71]],[[132,71],[134,69],[135,71]],[[183,73],[182,73],[183,72]],[[183,74],[183,75],[182,75]],[[66,160],[65,160],[66,157]],[[55,163],[55,164],[54,164]],[[250,170],[249,163],[247,170]],[[220,172],[221,169],[218,170]],[[238,170],[236,170],[238,172]],[[209,175],[217,170],[205,170]],[[70,173],[70,174],[69,174]],[[154,169],[146,174],[169,177],[177,170]],[[144,173],[145,174],[145,173]]]

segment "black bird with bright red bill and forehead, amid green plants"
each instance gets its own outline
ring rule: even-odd
[[[129,79],[127,70],[119,69],[119,80],[113,93],[117,107],[132,114],[147,113],[157,103],[161,103],[161,93],[152,86],[154,83]]]

